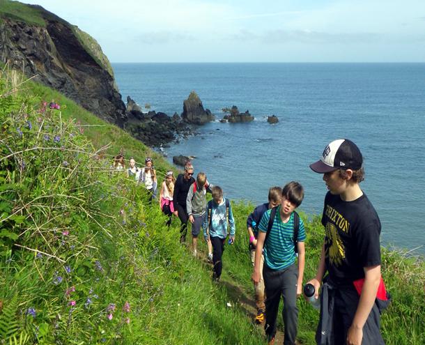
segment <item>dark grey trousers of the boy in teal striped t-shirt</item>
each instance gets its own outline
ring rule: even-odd
[[[295,263],[284,270],[271,270],[264,263],[263,278],[265,286],[265,334],[269,339],[276,334],[276,319],[280,297],[284,299],[282,317],[285,325],[284,345],[294,345],[297,337],[297,279]]]

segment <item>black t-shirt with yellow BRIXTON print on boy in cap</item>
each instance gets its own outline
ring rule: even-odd
[[[322,224],[325,263],[334,284],[351,284],[364,278],[364,267],[380,265],[380,220],[366,194],[343,201],[328,192]]]

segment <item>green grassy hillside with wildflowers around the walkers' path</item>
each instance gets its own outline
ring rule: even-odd
[[[120,151],[139,162],[152,155],[160,176],[169,164],[59,93],[21,82],[1,72],[0,344],[8,337],[28,344],[261,344],[247,307],[245,220],[254,205],[233,204],[236,241],[224,252],[223,282],[213,284],[210,266],[178,244],[178,220],[168,230],[145,191],[109,170]],[[44,105],[51,100],[60,111]],[[306,280],[323,238],[317,217],[307,222],[307,236]],[[424,344],[424,263],[384,251],[383,275],[393,296],[382,319],[387,344]],[[298,303],[300,341],[314,344],[318,313]]]

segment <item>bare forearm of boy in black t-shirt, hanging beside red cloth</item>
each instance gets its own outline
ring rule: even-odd
[[[363,338],[363,326],[371,313],[376,292],[380,282],[380,265],[364,268],[364,284],[359,305],[354,315],[353,323],[348,329],[347,344],[360,345]]]

